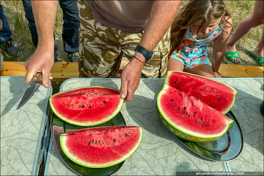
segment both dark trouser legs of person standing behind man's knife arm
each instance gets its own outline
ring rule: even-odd
[[[28,20],[28,27],[32,36],[32,42],[35,47],[38,46],[38,34],[35,25],[35,20],[32,12],[31,1],[22,1],[26,18]],[[62,26],[62,40],[64,50],[67,53],[75,53],[79,50],[79,36],[78,30],[80,27],[79,10],[77,7],[77,1],[59,1],[60,7],[63,12],[63,26]],[[55,39],[55,34],[54,34]],[[54,52],[58,49],[57,45],[54,45]]]

